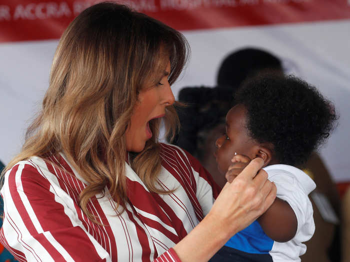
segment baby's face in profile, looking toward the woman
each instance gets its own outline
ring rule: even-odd
[[[238,104],[232,107],[226,115],[226,132],[220,136],[216,142],[217,169],[225,175],[233,154],[242,154],[250,159],[255,158],[258,145],[248,136],[246,129],[245,108]]]

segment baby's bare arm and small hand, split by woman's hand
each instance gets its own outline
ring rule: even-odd
[[[236,174],[250,162],[250,159],[243,155],[236,155],[232,158],[232,164],[225,175],[228,182],[232,182]],[[257,221],[264,233],[274,241],[286,242],[291,240],[296,233],[297,219],[289,204],[276,198],[267,211]]]

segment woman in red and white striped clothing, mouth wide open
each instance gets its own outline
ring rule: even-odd
[[[208,261],[272,203],[262,160],[213,204],[200,164],[157,142],[161,119],[175,126],[170,84],[186,47],[172,28],[114,3],[68,26],[1,189],[0,240],[18,260]]]

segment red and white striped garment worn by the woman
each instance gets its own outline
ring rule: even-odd
[[[124,212],[108,190],[88,203],[102,225],[81,211],[78,196],[84,180],[64,160],[20,161],[5,174],[0,242],[18,261],[156,261],[179,262],[171,249],[210,210],[217,196],[208,173],[188,153],[161,144],[158,178],[167,195],[150,193],[125,163],[128,203]]]

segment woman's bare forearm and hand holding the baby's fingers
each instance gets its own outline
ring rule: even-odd
[[[226,183],[210,212],[173,248],[182,262],[206,262],[237,232],[263,214],[276,197],[276,187],[255,158]],[[195,252],[193,252],[193,250]]]

